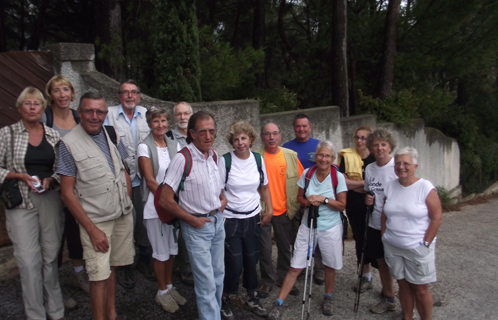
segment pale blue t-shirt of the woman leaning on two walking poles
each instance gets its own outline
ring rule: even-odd
[[[304,170],[303,174],[299,178],[299,181],[297,182],[297,185],[301,189],[304,189],[306,173],[308,171],[309,169]],[[348,187],[346,186],[346,180],[344,179],[344,175],[339,171],[337,171],[336,193],[339,194],[341,192],[347,192],[347,191]],[[334,189],[332,188],[332,178],[330,177],[330,174],[327,177],[325,177],[325,179],[322,182],[318,181],[316,174],[314,174],[311,177],[308,189],[306,189],[306,197],[309,197],[311,195],[320,195],[332,200],[336,200]],[[302,222],[307,226],[308,210],[306,210]],[[327,231],[340,223],[342,223],[342,221],[339,211],[333,210],[325,204],[321,204],[318,207],[318,224],[316,228],[318,231]]]

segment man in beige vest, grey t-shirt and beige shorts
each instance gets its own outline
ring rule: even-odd
[[[61,196],[79,223],[93,319],[122,319],[115,309],[116,266],[131,264],[135,254],[131,180],[121,160],[128,155],[113,129],[110,135],[102,126],[107,104],[100,93],[85,93],[78,114],[81,123],[59,146]]]

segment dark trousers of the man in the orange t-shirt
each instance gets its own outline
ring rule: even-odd
[[[277,243],[277,274],[272,262],[271,228]],[[289,271],[291,260],[291,220],[287,213],[273,216],[271,223],[261,227],[261,252],[259,254],[259,269],[261,282],[273,287],[275,281],[283,282]],[[277,278],[277,279],[275,279]]]

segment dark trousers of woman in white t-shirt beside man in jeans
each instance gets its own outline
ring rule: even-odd
[[[225,220],[225,279],[223,292],[237,294],[239,278],[248,294],[258,288],[256,265],[259,258],[261,226],[260,216],[247,219]]]

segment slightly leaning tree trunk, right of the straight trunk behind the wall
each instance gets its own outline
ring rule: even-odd
[[[389,0],[384,29],[384,46],[379,77],[378,96],[381,99],[391,95],[394,80],[394,59],[396,57],[396,31],[401,0]]]

